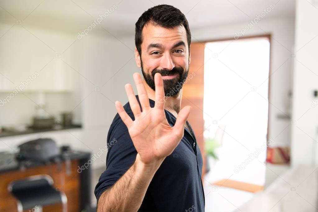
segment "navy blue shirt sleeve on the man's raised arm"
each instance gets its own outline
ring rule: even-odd
[[[135,120],[132,113],[128,115]],[[113,186],[133,165],[137,155],[128,129],[118,114],[108,132],[107,147],[106,170],[101,174],[94,190],[97,202],[104,190]]]

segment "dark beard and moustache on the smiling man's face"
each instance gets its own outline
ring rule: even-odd
[[[151,72],[151,75],[150,75],[150,74],[147,74],[144,72],[142,60],[140,60],[140,62],[141,62],[142,75],[143,75],[146,83],[149,85],[149,87],[151,89],[153,89],[154,91],[156,90],[155,74],[157,72],[160,73],[161,76],[169,76],[169,75],[177,74],[177,76],[173,79],[163,80],[164,95],[167,97],[175,96],[180,92],[180,90],[182,89],[183,83],[186,80],[186,78],[188,76],[188,72],[189,72],[189,69],[184,71],[183,68],[181,68],[181,67],[174,67],[172,70],[155,69]]]

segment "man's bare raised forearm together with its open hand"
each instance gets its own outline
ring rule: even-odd
[[[97,211],[137,211],[146,194],[148,186],[163,160],[169,156],[183,137],[184,124],[191,107],[184,107],[171,127],[164,113],[164,89],[162,77],[155,75],[156,104],[149,105],[149,98],[138,73],[134,74],[139,103],[130,84],[125,85],[130,107],[134,113],[133,121],[121,103],[116,101],[116,109],[128,128],[129,135],[137,150],[134,164],[109,189],[100,195]]]

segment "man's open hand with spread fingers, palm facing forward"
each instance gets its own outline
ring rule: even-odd
[[[149,106],[149,98],[141,76],[135,74],[134,79],[142,112],[129,84],[125,88],[135,121],[132,121],[120,103],[116,103],[116,109],[128,128],[142,162],[151,163],[156,159],[169,156],[176,148],[183,137],[184,124],[189,116],[190,107],[184,107],[179,112],[175,126],[171,127],[164,113],[164,89],[161,75],[155,75],[156,104],[154,108]]]

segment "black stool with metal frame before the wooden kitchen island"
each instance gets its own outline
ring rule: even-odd
[[[53,179],[48,175],[35,175],[13,181],[9,184],[8,190],[17,198],[19,212],[25,209],[42,211],[42,206],[59,202],[63,204],[63,212],[67,212],[65,193],[53,187]]]

